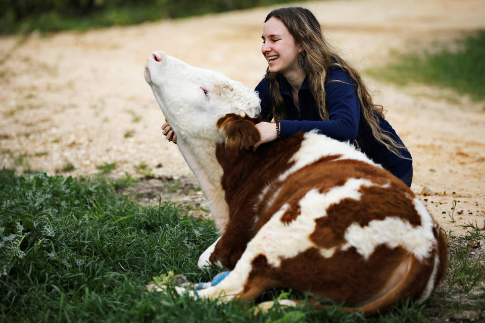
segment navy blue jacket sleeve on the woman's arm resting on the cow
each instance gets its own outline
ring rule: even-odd
[[[289,137],[298,132],[317,129],[319,133],[341,141],[354,141],[359,129],[360,103],[349,75],[342,70],[334,71],[325,86],[328,121],[280,122],[281,136]],[[300,109],[311,107],[300,106]]]

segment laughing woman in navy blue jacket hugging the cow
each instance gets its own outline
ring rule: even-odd
[[[255,145],[317,129],[331,138],[354,142],[376,163],[411,186],[411,154],[382,106],[375,105],[359,74],[323,38],[320,24],[300,7],[273,10],[265,19],[261,51],[268,62],[256,87],[261,116]],[[162,128],[176,141],[168,123]]]

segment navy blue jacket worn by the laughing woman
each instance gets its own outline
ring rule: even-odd
[[[331,80],[344,83],[329,83]],[[301,131],[308,132],[318,129],[320,133],[340,141],[354,142],[357,140],[362,152],[398,178],[412,169],[412,160],[397,156],[374,138],[372,130],[362,115],[356,88],[347,72],[340,68],[331,68],[327,71],[325,99],[330,119],[328,121],[322,121],[320,118],[307,78],[298,92],[300,112],[293,101],[292,88],[282,75],[279,85],[288,119],[280,121],[281,137],[286,138]],[[261,117],[268,120],[273,119],[269,80],[263,78],[255,90],[259,92],[261,99]],[[393,127],[382,117],[378,116],[378,118],[381,129],[404,146]],[[403,156],[411,158],[407,149],[401,149],[400,152]]]

